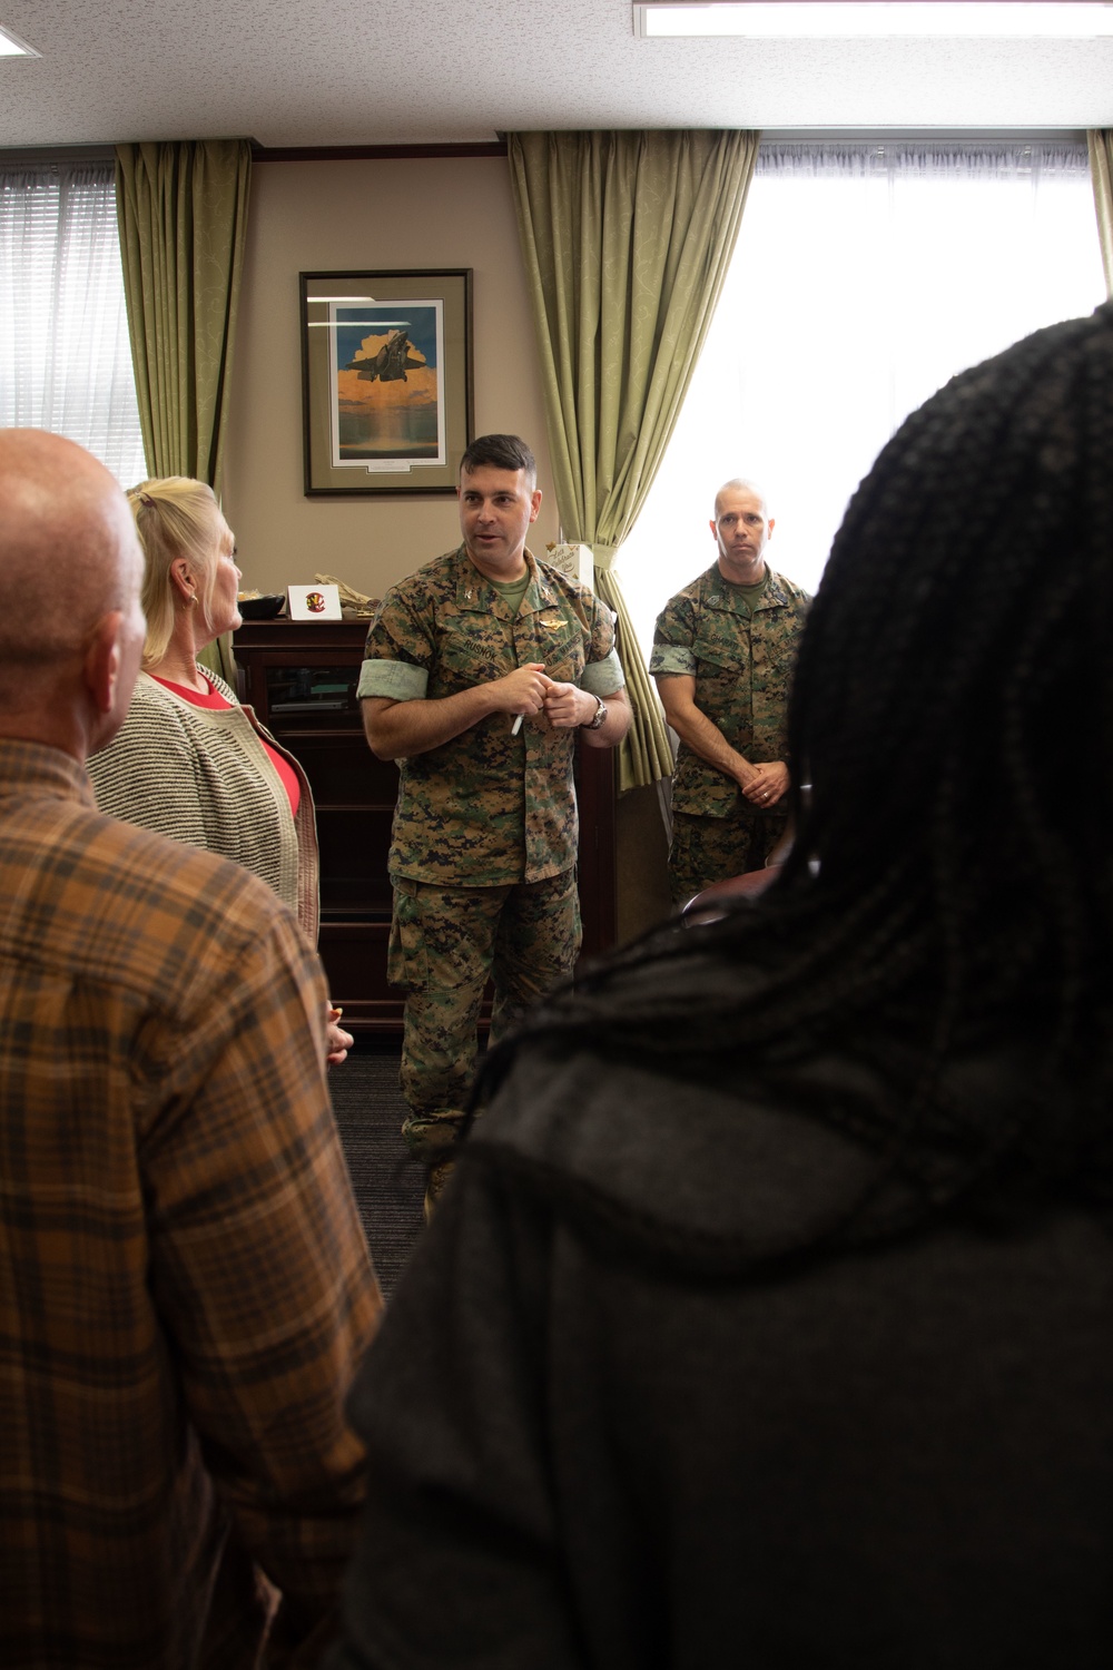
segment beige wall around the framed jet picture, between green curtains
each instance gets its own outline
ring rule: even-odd
[[[260,162],[252,174],[224,508],[244,584],[315,573],[380,596],[459,538],[449,498],[307,499],[302,491],[299,272],[472,267],[476,434],[526,436],[557,538],[526,279],[506,159]]]

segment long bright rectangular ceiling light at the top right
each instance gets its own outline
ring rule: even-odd
[[[1093,0],[646,0],[634,33],[823,38],[884,35],[1090,40],[1113,35],[1113,5]]]

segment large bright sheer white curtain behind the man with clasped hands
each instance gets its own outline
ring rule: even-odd
[[[1105,301],[1086,147],[766,144],[669,456],[622,548],[631,615],[709,566],[729,476],[814,590],[846,501],[956,371]]]

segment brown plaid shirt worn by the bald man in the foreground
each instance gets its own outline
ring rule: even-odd
[[[327,1627],[379,1314],[324,982],[237,865],[0,740],[0,1663],[270,1663]],[[280,1600],[275,1597],[280,1592]]]

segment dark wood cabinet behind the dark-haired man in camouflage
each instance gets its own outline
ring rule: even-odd
[[[399,773],[375,760],[355,700],[367,625],[245,621],[235,633],[240,698],[300,760],[317,805],[320,955],[332,1000],[354,1032],[402,1027],[402,992],[387,985],[387,852]],[[579,902],[584,955],[614,945],[614,755],[579,748]]]

